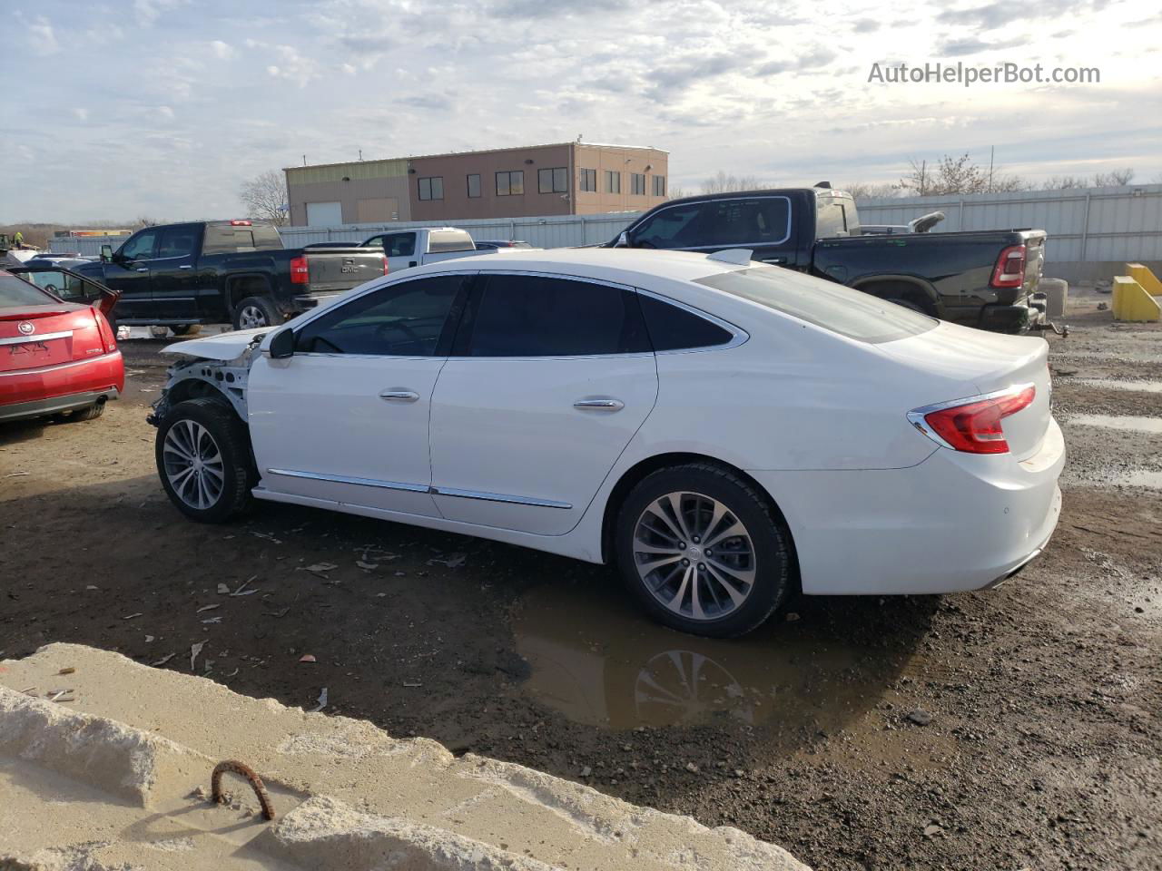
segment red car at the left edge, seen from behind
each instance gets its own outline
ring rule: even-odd
[[[117,398],[125,367],[106,317],[117,296],[59,267],[0,269],[0,422],[88,420]]]

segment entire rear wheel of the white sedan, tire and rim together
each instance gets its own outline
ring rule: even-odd
[[[743,534],[726,537],[736,524]],[[677,540],[687,534],[690,540]],[[640,481],[622,504],[614,537],[618,569],[638,603],[658,622],[693,635],[745,635],[794,586],[794,546],[782,519],[754,484],[710,463],[660,469]],[[703,553],[716,541],[720,550]],[[643,569],[651,556],[666,562]]]

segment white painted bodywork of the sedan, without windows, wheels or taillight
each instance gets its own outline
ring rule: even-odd
[[[471,268],[409,268],[347,291],[344,300],[450,272],[561,274],[704,311],[739,341],[535,360],[256,355],[248,417],[263,480],[254,496],[602,562],[618,481],[681,454],[729,463],[766,489],[790,528],[808,593],[978,589],[1043,547],[1060,513],[1064,448],[1042,339],[940,324],[869,344],[693,283],[740,268],[748,267],[682,252],[524,250],[472,258]],[[263,350],[277,331],[266,332]],[[252,338],[227,333],[167,352],[232,359]],[[906,419],[931,403],[1023,383],[1037,397],[1004,419],[1013,453],[957,453]],[[417,401],[379,398],[393,388]],[[624,408],[574,409],[583,398]]]

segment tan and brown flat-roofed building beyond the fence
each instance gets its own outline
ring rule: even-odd
[[[285,170],[290,223],[641,211],[668,193],[666,151],[569,142]]]

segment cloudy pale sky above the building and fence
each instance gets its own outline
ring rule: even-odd
[[[1141,0],[3,0],[0,222],[241,214],[309,163],[564,142],[670,152],[670,188],[882,182],[968,152],[1162,180],[1162,14]],[[826,10],[824,10],[826,9]],[[1040,63],[1100,84],[869,82]],[[19,96],[14,93],[19,91]]]

